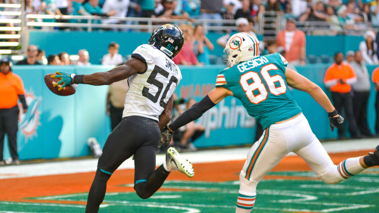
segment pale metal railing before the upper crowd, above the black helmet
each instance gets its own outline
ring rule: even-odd
[[[118,29],[133,29],[133,30],[147,30],[152,32],[154,29],[161,26],[160,23],[188,23],[186,19],[164,19],[164,18],[136,18],[136,17],[100,17],[100,16],[54,16],[54,15],[39,15],[28,14],[27,26],[29,27],[73,27],[85,28],[86,31],[91,32],[94,28],[118,28]],[[32,20],[33,21],[32,21]],[[43,19],[55,20],[55,22],[44,22]],[[93,23],[95,20],[117,20],[129,24],[107,24],[107,23]],[[85,20],[86,23],[67,23],[60,22],[60,20]],[[80,22],[80,21],[79,21]],[[134,22],[130,23],[130,22]],[[144,23],[144,24],[141,24]],[[214,20],[214,19],[196,19],[196,23],[201,23],[204,26],[204,31],[220,31],[220,30],[237,30],[234,26],[235,20]],[[232,26],[223,26],[232,25]],[[220,26],[221,25],[221,26]]]

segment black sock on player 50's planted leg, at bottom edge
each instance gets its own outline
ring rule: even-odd
[[[106,182],[108,182],[110,174],[96,170],[96,175],[94,181],[92,182],[91,188],[89,189],[86,213],[97,213],[99,212],[99,206],[104,200],[106,191]]]

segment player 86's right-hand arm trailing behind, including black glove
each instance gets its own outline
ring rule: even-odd
[[[334,130],[334,127],[340,127],[344,120],[343,117],[340,116],[337,110],[335,110],[325,92],[318,85],[289,68],[285,69],[285,77],[287,79],[288,86],[307,92],[321,107],[328,112],[330,129],[332,131]]]

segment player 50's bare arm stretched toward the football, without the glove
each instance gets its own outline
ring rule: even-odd
[[[90,75],[83,75],[83,83],[89,85],[110,85],[113,82],[124,80],[137,72],[142,72],[146,69],[145,63],[131,58],[125,64],[114,67],[107,72],[96,72]],[[74,83],[72,79],[71,83]]]

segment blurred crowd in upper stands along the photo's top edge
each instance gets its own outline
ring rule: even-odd
[[[2,0],[10,3],[14,0]],[[333,30],[354,23],[379,25],[377,0],[25,0],[27,14],[160,17],[169,19],[238,19],[257,22],[260,11],[277,11],[299,21],[326,21]],[[121,23],[104,19],[103,23]],[[221,23],[216,23],[221,25]]]

